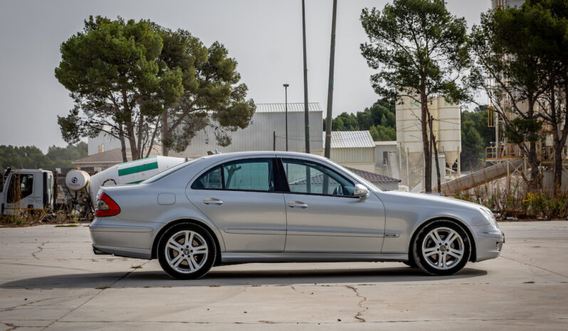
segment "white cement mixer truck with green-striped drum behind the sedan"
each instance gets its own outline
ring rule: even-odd
[[[101,186],[137,184],[186,161],[186,158],[153,156],[113,165],[95,175],[83,170],[70,170],[65,176],[65,185],[75,196],[67,205],[80,214],[80,219],[88,219],[93,215]],[[0,194],[0,215],[22,210],[56,210],[53,202],[55,181],[51,171],[8,170],[6,175],[4,190]]]

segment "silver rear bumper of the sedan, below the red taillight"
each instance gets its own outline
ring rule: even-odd
[[[152,227],[121,224],[97,218],[89,225],[93,248],[104,253],[136,259],[152,256]]]

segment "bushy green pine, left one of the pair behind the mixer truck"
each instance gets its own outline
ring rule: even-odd
[[[183,92],[181,70],[159,60],[162,46],[148,21],[90,16],[83,31],[61,45],[55,70],[75,100],[68,116],[58,116],[65,141],[105,131],[120,140],[123,161],[125,141],[132,159],[141,158],[152,147],[163,100],[177,102]]]

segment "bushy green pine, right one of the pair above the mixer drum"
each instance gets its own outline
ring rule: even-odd
[[[164,41],[160,60],[166,67],[182,72],[183,93],[179,102],[164,100],[164,156],[169,148],[184,151],[196,132],[206,126],[211,126],[221,146],[228,146],[228,131],[246,128],[256,109],[253,100],[246,99],[246,85],[238,84],[241,75],[236,71],[237,61],[228,57],[228,50],[221,43],[207,48],[189,31],[171,31],[155,24],[154,30]]]

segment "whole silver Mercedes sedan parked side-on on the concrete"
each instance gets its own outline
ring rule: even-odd
[[[451,275],[498,257],[505,242],[481,205],[386,192],[305,153],[197,158],[100,188],[95,213],[95,253],[158,259],[182,279],[247,262],[398,261]]]

